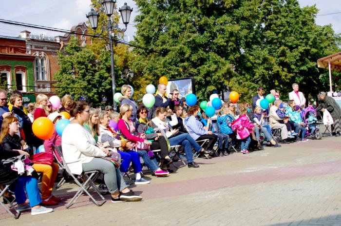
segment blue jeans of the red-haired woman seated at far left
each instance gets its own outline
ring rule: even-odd
[[[39,205],[42,200],[38,189],[38,180],[34,177],[19,177],[14,184],[14,194],[16,195],[17,203],[23,204],[26,202],[24,186],[30,201],[30,206]]]

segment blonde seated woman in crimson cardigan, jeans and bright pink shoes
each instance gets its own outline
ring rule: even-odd
[[[135,126],[133,125],[133,121],[129,118],[132,115],[133,107],[129,104],[123,104],[120,107],[120,119],[118,120],[118,129],[121,131],[121,135],[127,139],[128,141],[131,141],[133,143],[136,142],[143,142],[145,144],[151,145],[152,142],[148,141],[145,138],[137,137],[134,135],[135,133]],[[157,164],[156,160],[152,161],[146,150],[137,150],[137,153],[140,157],[142,157],[143,162],[147,165],[147,167],[152,171],[152,173],[156,174],[167,174],[168,172],[163,171],[159,165]],[[140,179],[141,181],[145,181],[143,178]]]

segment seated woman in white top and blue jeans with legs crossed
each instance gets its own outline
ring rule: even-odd
[[[188,133],[181,133],[177,129],[172,129],[171,125],[167,122],[168,112],[164,107],[158,107],[155,110],[156,117],[152,119],[152,127],[154,131],[160,131],[164,134],[164,137],[168,138],[170,146],[173,145],[183,145],[186,153],[186,160],[188,167],[199,167],[198,164],[193,162],[193,153],[191,147],[194,148],[196,152],[202,154],[212,154],[211,151],[207,151],[197,144]]]

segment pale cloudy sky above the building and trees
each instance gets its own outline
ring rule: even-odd
[[[132,17],[125,32],[125,40],[133,40],[136,32],[134,17],[138,9],[133,0],[117,0],[117,6],[123,6],[127,2],[133,8]],[[301,7],[316,4],[319,14],[341,12],[340,0],[299,0]],[[79,22],[87,21],[86,14],[91,9],[91,0],[0,0],[0,19],[18,21],[42,26],[55,27],[70,30]],[[341,13],[317,16],[316,23],[319,25],[332,24],[336,33],[341,33]],[[119,24],[124,27],[124,24]],[[58,36],[62,33],[25,28],[21,26],[0,23],[0,35],[18,37],[20,31],[29,30],[32,34],[45,34]]]

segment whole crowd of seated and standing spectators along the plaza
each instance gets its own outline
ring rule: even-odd
[[[59,109],[53,109],[43,94],[39,94],[36,103],[30,103],[26,109],[19,91],[13,92],[7,102],[7,92],[0,89],[0,158],[31,158],[40,145],[44,145],[48,153],[55,152],[55,147],[61,145],[63,160],[71,172],[80,175],[85,171],[100,171],[103,179],[98,186],[102,192],[110,193],[112,202],[116,203],[142,200],[124,180],[131,168],[134,184],[144,185],[150,181],[143,178],[142,165],[156,177],[167,177],[173,172],[170,165],[179,160],[178,156],[186,159],[188,167],[196,168],[199,164],[194,162],[193,156],[209,159],[228,156],[237,149],[242,154],[249,154],[251,150],[263,150],[264,145],[281,147],[281,144],[306,142],[307,135],[314,138],[318,132],[317,111],[320,110],[331,114],[333,135],[340,136],[341,132],[341,110],[334,99],[321,92],[321,101],[315,110],[306,106],[296,83],[288,95],[287,104],[271,90],[276,94],[276,100],[268,109],[260,107],[259,100],[265,98],[265,90],[260,86],[252,105],[226,102],[211,118],[199,106],[188,106],[186,99],[179,99],[176,89],[166,96],[166,85],[162,83],[157,86],[152,108],[138,105],[132,98],[129,85],[123,85],[121,92],[123,96],[119,112],[116,112],[112,106],[101,110],[83,101],[75,102],[70,95],[62,97]],[[32,130],[34,120],[48,117],[56,125],[63,118],[61,112],[72,117],[62,137],[56,130],[48,140],[35,136]],[[277,131],[277,137],[274,131]],[[206,142],[201,143],[203,140]],[[174,145],[182,147],[181,155],[171,154]],[[113,153],[120,156],[121,162],[117,165],[105,158]],[[57,153],[55,156],[62,161]],[[8,173],[2,163],[0,185],[13,184],[11,190],[19,211],[31,209],[32,215],[51,212],[52,208],[44,206],[57,205],[61,201],[53,195],[58,164],[35,163],[31,166],[41,175],[41,194],[35,173],[18,175],[13,170]],[[8,200],[14,199],[9,192],[4,195]]]

